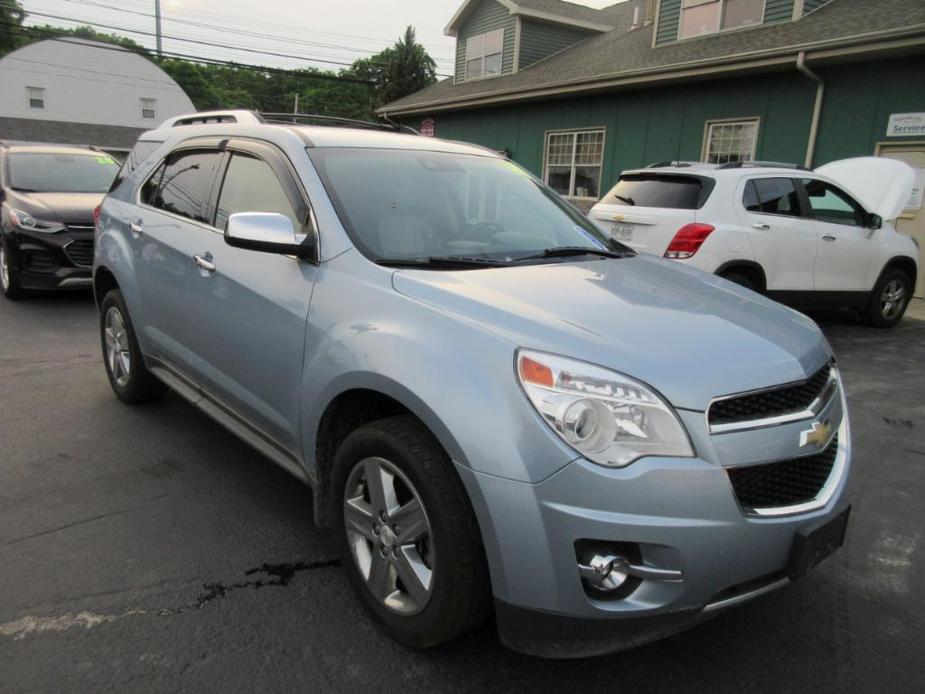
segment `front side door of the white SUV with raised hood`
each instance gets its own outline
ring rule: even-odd
[[[807,215],[819,238],[814,274],[817,291],[869,291],[878,255],[867,211],[838,186],[817,178],[800,181]]]

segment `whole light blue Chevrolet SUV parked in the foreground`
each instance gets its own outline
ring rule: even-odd
[[[140,146],[97,229],[113,390],[172,388],[311,485],[390,636],[493,611],[521,651],[616,650],[841,545],[848,415],[808,318],[478,147],[259,122]]]

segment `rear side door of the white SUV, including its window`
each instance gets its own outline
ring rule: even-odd
[[[796,181],[788,176],[746,178],[738,192],[742,226],[769,291],[813,289],[819,239],[803,217]]]

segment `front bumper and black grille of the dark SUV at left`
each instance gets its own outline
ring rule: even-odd
[[[53,234],[4,232],[4,240],[23,289],[68,290],[93,286],[92,228]]]

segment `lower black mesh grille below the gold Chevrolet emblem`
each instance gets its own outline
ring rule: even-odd
[[[836,435],[825,450],[807,458],[730,468],[729,481],[739,505],[747,511],[795,506],[819,496],[837,454]]]

